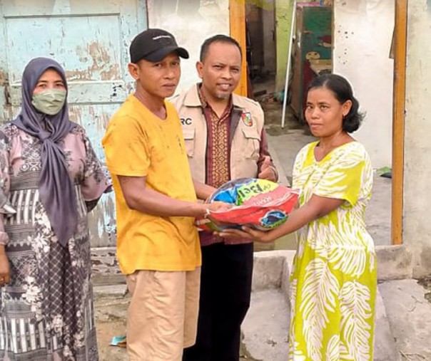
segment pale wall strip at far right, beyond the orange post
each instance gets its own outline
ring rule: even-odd
[[[431,1],[410,0],[405,98],[403,241],[415,250],[413,274],[431,273]]]

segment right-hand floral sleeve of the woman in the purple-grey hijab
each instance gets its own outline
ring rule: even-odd
[[[87,211],[91,211],[103,193],[112,191],[112,185],[111,180],[103,172],[101,162],[85,134],[83,135],[83,142],[86,149],[86,159],[81,192],[86,202]]]

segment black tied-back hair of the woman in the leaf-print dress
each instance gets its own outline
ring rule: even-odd
[[[343,130],[353,133],[359,129],[364,119],[364,114],[359,112],[359,102],[353,96],[353,89],[346,78],[337,74],[323,74],[310,81],[307,87],[307,94],[311,89],[327,88],[332,91],[335,98],[344,104],[348,100],[352,102],[352,108],[345,117],[343,117]]]

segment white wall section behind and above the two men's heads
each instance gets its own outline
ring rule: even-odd
[[[190,54],[190,58],[181,60],[181,80],[176,93],[199,81],[196,61],[199,60],[203,41],[219,33],[230,33],[229,0],[196,1],[199,5],[193,9],[189,9],[191,6],[188,2],[147,0],[148,27],[163,28],[173,33],[178,45],[186,48]],[[186,8],[182,9],[182,6]]]

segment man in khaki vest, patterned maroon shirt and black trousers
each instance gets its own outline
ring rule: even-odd
[[[241,61],[240,46],[233,38],[208,38],[196,64],[202,83],[173,99],[193,178],[213,190],[230,179],[278,179],[268,152],[262,108],[233,94]],[[184,350],[183,361],[238,361],[240,325],[250,305],[253,244],[219,239],[204,231],[200,239],[198,336],[196,345]]]

